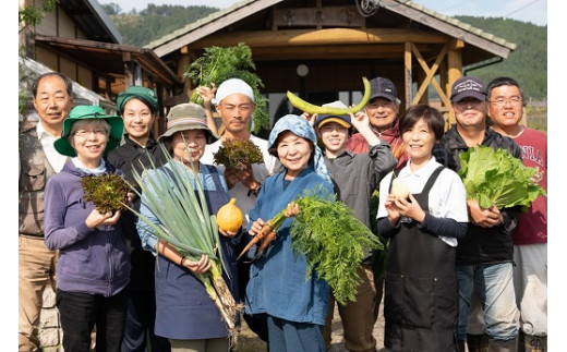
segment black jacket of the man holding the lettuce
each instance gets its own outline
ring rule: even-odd
[[[456,124],[445,133],[441,144],[453,156],[453,162],[449,165],[458,172],[460,170],[459,155],[467,151],[469,147],[457,132]],[[516,142],[492,129],[486,128],[484,139],[481,144],[495,150],[498,148],[507,149],[512,156],[521,159],[521,148]],[[459,240],[459,245],[457,246],[457,264],[471,265],[512,260],[512,231],[521,214],[521,207],[517,206],[499,210],[504,217],[504,222],[496,227],[482,228],[469,222],[467,234],[465,239]]]

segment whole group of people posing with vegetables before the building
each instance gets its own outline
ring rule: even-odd
[[[72,108],[64,75],[39,76],[33,85],[39,121],[26,122],[20,134],[19,351],[40,349],[48,283],[57,292],[65,351],[89,351],[94,330],[97,351],[231,349],[232,336],[198,280],[210,258],[192,260],[152,230],[160,221],[148,197],[179,192],[177,182],[152,195],[129,193],[144,221],[129,210],[102,214],[84,201],[82,178],[117,173],[136,185],[134,174],[145,168],[155,168],[149,179],[184,170],[202,185],[201,206],[210,214],[237,198],[242,228],[218,234],[229,271],[224,278],[270,352],[323,352],[331,344],[333,290],[315,271],[306,277],[305,256],[291,247],[292,217],[300,211],[293,199],[306,190],[335,194],[369,228],[376,219],[388,242],[385,275],[376,271],[376,254],[365,253],[357,264],[357,300],[337,303],[347,350],[376,351],[373,329],[383,296],[384,345],[390,351],[465,351],[466,344],[469,351],[546,350],[546,198],[528,211],[482,208],[467,199],[458,175],[459,155],[484,145],[536,167],[546,189],[546,135],[521,123],[519,84],[458,78],[450,96],[456,124],[448,131],[429,105],[399,117],[388,78],[376,77],[371,87],[360,112],[276,117],[263,139],[250,132],[252,87],[230,78],[200,88],[206,108],[172,107],[167,130],[156,138],[160,107],[154,90],[129,87],[117,99],[120,116],[108,116],[96,106]],[[341,101],[325,106],[347,108]],[[209,107],[220,116],[221,136]],[[264,162],[214,165],[230,139],[251,141]],[[390,192],[399,181],[408,197]],[[371,209],[374,191],[377,214]],[[265,254],[255,257],[252,248],[237,260],[281,209],[288,219]]]

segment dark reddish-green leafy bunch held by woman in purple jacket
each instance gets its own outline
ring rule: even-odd
[[[116,173],[87,175],[81,180],[85,201],[93,202],[98,211],[105,214],[125,209],[128,183]]]

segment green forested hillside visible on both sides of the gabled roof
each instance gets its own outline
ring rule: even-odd
[[[137,13],[123,13],[116,3],[104,4],[102,8],[122,35],[123,44],[140,47],[219,10],[153,3]],[[468,75],[478,76],[485,82],[500,75],[511,76],[520,83],[527,99],[547,99],[547,26],[503,17],[456,19],[517,45],[516,51],[508,59],[471,70]]]

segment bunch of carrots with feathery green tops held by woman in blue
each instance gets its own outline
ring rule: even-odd
[[[358,275],[360,263],[366,250],[384,251],[382,242],[335,195],[322,197],[306,190],[293,203],[299,206],[300,213],[291,223],[291,247],[295,253],[306,256],[305,278],[315,269],[317,276],[329,283],[337,302],[345,304],[347,300],[355,301],[361,282]],[[256,235],[260,240],[254,239],[256,242],[264,239],[256,256],[277,235],[277,230],[286,219],[285,211],[266,222]]]

